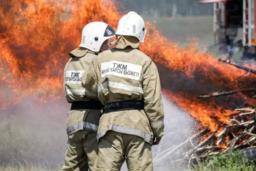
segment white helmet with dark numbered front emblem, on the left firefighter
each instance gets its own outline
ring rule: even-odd
[[[103,42],[115,36],[115,31],[104,22],[91,22],[84,26],[79,47],[98,52]]]

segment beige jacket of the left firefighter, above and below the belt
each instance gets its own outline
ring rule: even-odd
[[[76,48],[69,53],[70,60],[64,68],[64,91],[69,103],[75,101],[98,100],[97,93],[92,93],[81,85],[82,73],[89,69],[89,64],[97,54],[86,49]],[[100,110],[79,109],[69,110],[67,122],[67,134],[82,129],[97,132],[100,120]]]

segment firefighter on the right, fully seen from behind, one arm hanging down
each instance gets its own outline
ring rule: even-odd
[[[98,87],[105,105],[95,171],[119,171],[124,160],[129,171],[153,170],[151,146],[164,135],[164,111],[158,69],[139,51],[146,31],[142,17],[129,12],[117,25],[114,48],[94,58],[83,73],[82,86]]]

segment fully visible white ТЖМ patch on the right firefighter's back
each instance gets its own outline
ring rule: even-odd
[[[128,62],[110,61],[101,63],[101,78],[106,75],[115,75],[123,78],[139,80],[141,74],[141,65]]]

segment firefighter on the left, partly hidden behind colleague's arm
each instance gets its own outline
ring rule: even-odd
[[[115,31],[106,23],[91,22],[84,26],[79,48],[71,51],[64,68],[64,91],[71,103],[67,121],[67,151],[62,171],[93,171],[98,154],[97,130],[102,104],[97,93],[81,85],[82,73],[100,52],[109,49],[108,40]]]

